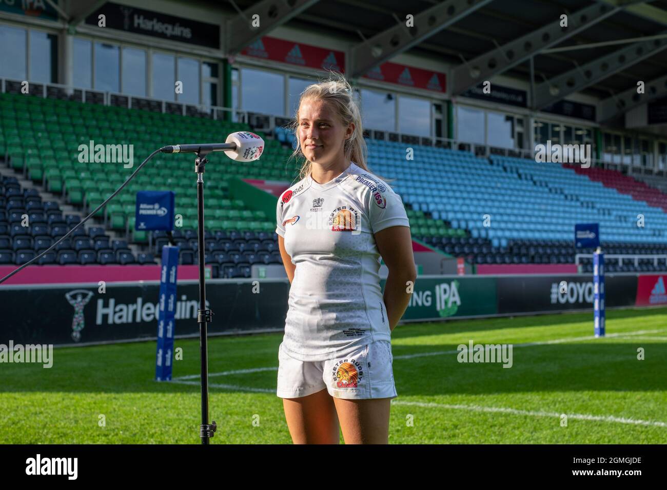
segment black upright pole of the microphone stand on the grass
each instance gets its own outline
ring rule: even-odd
[[[197,247],[199,253],[199,311],[197,311],[197,323],[199,323],[199,358],[201,360],[201,425],[199,425],[199,437],[202,444],[208,444],[217,429],[215,421],[209,424],[208,407],[208,347],[207,328],[211,322],[213,312],[206,308],[206,284],[204,277],[204,178],[205,165],[208,163],[206,155],[210,150],[201,149],[197,152],[195,159],[195,173],[197,173]]]

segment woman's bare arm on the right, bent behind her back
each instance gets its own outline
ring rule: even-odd
[[[389,269],[384,286],[384,304],[390,330],[394,330],[398,321],[408,309],[413,288],[408,289],[410,281],[414,287],[417,279],[412,236],[410,227],[390,226],[375,233],[378,251]]]

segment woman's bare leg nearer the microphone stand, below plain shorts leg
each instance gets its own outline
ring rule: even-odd
[[[305,397],[283,398],[283,407],[293,443],[340,443],[336,405],[326,388]]]

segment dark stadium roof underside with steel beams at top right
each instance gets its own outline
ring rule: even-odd
[[[667,0],[233,0],[211,6],[214,3],[233,15],[227,26],[231,53],[283,24],[357,43],[352,76],[404,52],[442,59],[450,65],[451,95],[500,73],[530,83],[532,57],[535,109],[578,92],[606,100],[598,119],[613,119],[634,107],[632,95],[640,80],[650,99],[667,96]],[[247,33],[243,17],[253,13],[272,21]],[[414,27],[406,27],[408,14],[414,15]],[[563,14],[568,15],[567,28],[560,27]],[[641,37],[648,39],[636,40]],[[571,47],[578,48],[562,50]],[[646,101],[642,97],[641,103]]]

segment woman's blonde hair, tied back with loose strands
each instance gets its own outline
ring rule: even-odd
[[[329,71],[329,77],[326,80],[308,85],[301,92],[299,105],[294,113],[293,121],[289,124],[289,129],[294,131],[297,141],[297,147],[289,159],[303,160],[299,169],[298,180],[305,179],[305,177],[311,175],[313,167],[312,162],[303,155],[301,141],[299,141],[299,110],[301,109],[301,103],[305,99],[315,99],[330,103],[343,125],[348,126],[350,123],[354,123],[354,131],[344,143],[345,159],[346,161],[354,161],[360,168],[370,172],[367,163],[368,148],[364,139],[364,129],[362,129],[362,114],[359,104],[354,99],[352,86],[344,75],[335,71]]]

